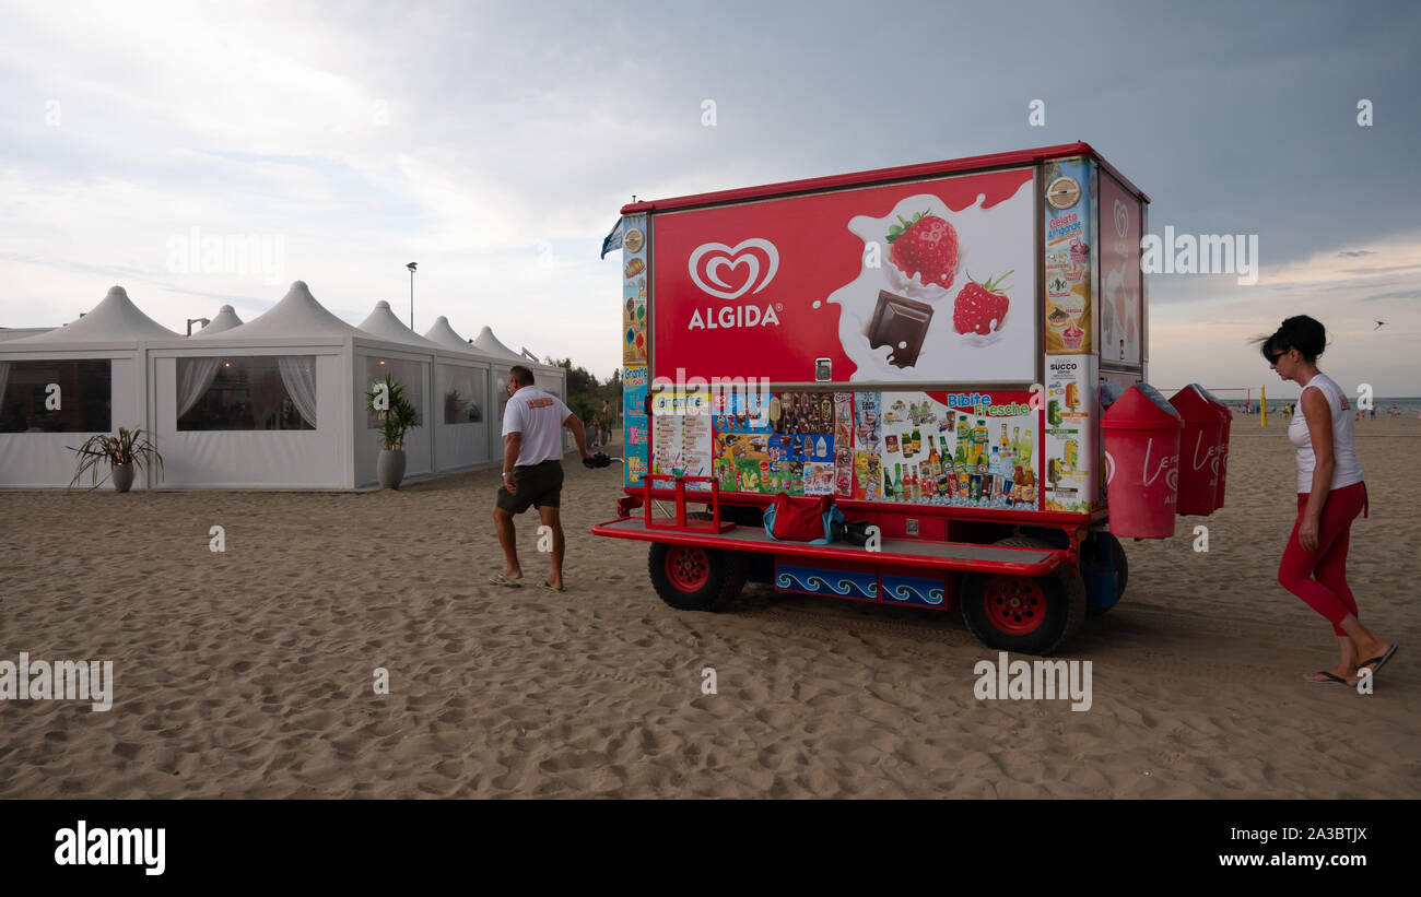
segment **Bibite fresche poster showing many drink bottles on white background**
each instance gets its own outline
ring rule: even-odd
[[[878,495],[871,464],[855,461],[865,498],[1036,510],[1034,429],[1026,390],[885,392],[860,400],[864,429],[877,403]],[[857,492],[855,492],[857,494]]]

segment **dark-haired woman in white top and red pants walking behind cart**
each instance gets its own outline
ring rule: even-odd
[[[1327,617],[1340,644],[1337,666],[1304,678],[1353,686],[1363,668],[1376,673],[1391,660],[1397,646],[1361,624],[1357,600],[1347,588],[1351,521],[1367,507],[1367,484],[1347,420],[1347,393],[1317,369],[1317,356],[1327,343],[1319,321],[1307,315],[1287,318],[1260,342],[1277,376],[1302,387],[1287,427],[1287,439],[1297,448],[1297,519],[1277,582]]]

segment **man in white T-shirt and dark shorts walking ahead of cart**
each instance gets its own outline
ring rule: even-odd
[[[523,365],[509,370],[509,403],[503,409],[503,485],[493,502],[493,527],[499,532],[506,565],[489,578],[497,586],[523,583],[513,515],[536,507],[544,527],[553,531],[553,572],[544,589],[566,592],[563,586],[563,427],[573,431],[583,464],[591,467],[583,422],[557,396],[533,385],[533,372]]]

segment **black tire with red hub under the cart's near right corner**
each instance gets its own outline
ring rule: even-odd
[[[1042,539],[1012,536],[1003,548],[1050,548]],[[1015,603],[1020,602],[1020,603]],[[999,651],[1054,654],[1086,622],[1086,583],[1070,566],[1046,576],[968,573],[962,578],[962,620],[982,644]]]

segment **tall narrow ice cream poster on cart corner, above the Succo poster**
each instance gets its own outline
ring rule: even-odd
[[[1046,167],[1046,352],[1091,352],[1091,166],[1060,159]]]

